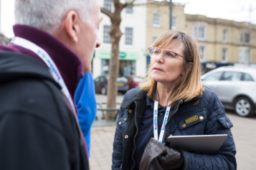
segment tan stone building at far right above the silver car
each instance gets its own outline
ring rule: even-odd
[[[250,37],[249,23],[186,14],[186,31],[199,41],[205,71],[256,63],[255,25]]]

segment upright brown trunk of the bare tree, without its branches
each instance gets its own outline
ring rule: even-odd
[[[118,69],[119,69],[119,41],[122,36],[120,31],[121,11],[123,6],[115,5],[115,11],[111,20],[111,30],[109,32],[111,37],[111,59],[110,59],[110,69],[109,69],[109,79],[108,79],[108,102],[107,108],[115,108],[115,97],[118,93]],[[105,115],[106,120],[113,120],[115,118],[115,111],[107,111]]]

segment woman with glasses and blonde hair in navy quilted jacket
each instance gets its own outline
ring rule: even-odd
[[[202,86],[197,42],[171,30],[156,39],[148,54],[146,83],[128,91],[120,106],[112,169],[237,169],[233,125],[216,94]],[[217,154],[165,145],[169,136],[206,134],[228,135]]]

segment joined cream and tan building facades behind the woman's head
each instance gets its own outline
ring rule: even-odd
[[[147,7],[147,47],[156,37],[169,31],[169,17],[169,6]],[[256,25],[252,25],[249,36],[247,22],[184,14],[184,5],[174,4],[172,29],[186,31],[199,41],[204,68],[215,69],[236,63],[256,64]]]

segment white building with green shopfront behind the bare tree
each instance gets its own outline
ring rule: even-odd
[[[122,3],[125,0],[121,0]],[[112,0],[99,0],[100,6],[114,10]],[[137,0],[136,4],[146,4],[146,0]],[[123,9],[120,30],[123,36],[119,44],[119,76],[144,76],[146,74],[146,6],[131,6]],[[101,46],[95,49],[93,57],[93,78],[108,74],[111,54],[111,22],[103,14],[98,36]]]

